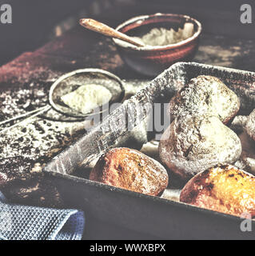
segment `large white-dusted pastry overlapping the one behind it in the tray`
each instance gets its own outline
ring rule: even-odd
[[[236,162],[241,142],[219,118],[185,112],[161,136],[159,155],[170,170],[188,180],[219,162]]]

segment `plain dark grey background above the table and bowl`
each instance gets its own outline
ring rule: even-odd
[[[0,24],[0,65],[24,51],[50,41],[54,27],[67,30],[84,16],[112,26],[137,14],[189,14],[203,23],[204,32],[233,38],[255,38],[255,2],[246,0],[0,0],[13,8],[13,24]],[[240,22],[240,6],[253,6],[253,24]],[[70,18],[73,17],[73,20]],[[65,23],[66,21],[66,23]],[[68,24],[70,22],[70,24]]]

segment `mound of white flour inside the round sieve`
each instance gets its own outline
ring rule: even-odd
[[[100,85],[79,86],[77,90],[61,97],[62,102],[82,114],[89,114],[96,107],[110,102],[111,98],[110,90]]]

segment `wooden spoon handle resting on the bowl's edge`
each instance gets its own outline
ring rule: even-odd
[[[144,47],[145,44],[141,42],[135,41],[133,38],[129,37],[126,34],[123,34],[122,32],[119,32],[118,30],[114,30],[110,26],[107,26],[106,24],[103,24],[102,22],[95,21],[92,18],[82,18],[80,19],[80,24],[86,29],[96,31],[100,34],[104,34],[110,38],[118,38],[125,42],[129,42],[134,46]]]

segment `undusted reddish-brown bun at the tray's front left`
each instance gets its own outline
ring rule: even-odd
[[[115,148],[99,158],[90,173],[90,180],[158,195],[168,185],[168,174],[159,162],[137,150]]]

